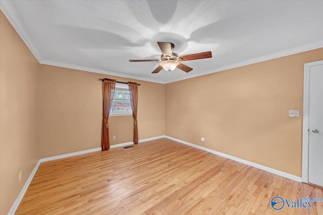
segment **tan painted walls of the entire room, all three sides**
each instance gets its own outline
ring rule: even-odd
[[[41,65],[2,12],[0,28],[0,214],[39,158],[100,147],[105,77],[141,83],[139,139],[166,134],[301,176],[302,114],[288,110],[302,113],[303,65],[323,48],[161,85]],[[132,140],[132,116],[109,123],[111,145]]]

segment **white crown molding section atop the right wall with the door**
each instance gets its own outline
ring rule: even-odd
[[[258,63],[258,62],[262,62],[262,61],[266,61],[266,60],[272,60],[272,59],[279,58],[279,57],[285,57],[285,56],[288,56],[288,55],[297,54],[297,53],[300,53],[300,52],[309,51],[309,50],[322,48],[322,47],[323,47],[323,40],[318,41],[318,42],[314,42],[314,43],[310,43],[310,44],[307,44],[307,45],[298,46],[296,48],[291,48],[291,49],[287,49],[287,50],[284,50],[284,51],[279,51],[279,52],[276,52],[276,53],[273,53],[273,54],[268,54],[268,55],[264,55],[264,56],[261,56],[261,57],[256,57],[256,58],[252,58],[252,59],[249,59],[249,60],[244,60],[244,61],[241,61],[241,62],[237,62],[237,63],[233,63],[233,64],[230,64],[230,65],[222,66],[222,67],[219,67],[219,68],[217,68],[215,70],[206,71],[205,73],[200,73],[200,74],[196,74],[196,75],[193,75],[193,76],[187,76],[185,78],[172,80],[172,81],[166,82],[166,84],[182,81],[182,80],[185,80],[185,79],[191,79],[191,78],[195,78],[195,77],[199,77],[199,76],[204,76],[204,75],[208,75],[208,74],[212,74],[212,73],[217,73],[219,71],[224,71],[224,70],[228,70],[228,69],[231,69],[231,68],[237,68],[237,67],[241,67],[241,66],[245,66],[245,65],[250,65],[250,64],[253,64],[253,63]]]

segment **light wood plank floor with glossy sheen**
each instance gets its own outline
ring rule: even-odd
[[[323,214],[323,202],[270,205],[322,193],[162,138],[42,163],[16,214]]]

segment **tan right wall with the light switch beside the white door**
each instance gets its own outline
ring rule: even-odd
[[[320,48],[167,84],[166,135],[301,176],[304,63],[322,59]]]

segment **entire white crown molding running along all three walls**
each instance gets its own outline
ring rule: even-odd
[[[90,67],[85,67],[85,66],[79,66],[79,65],[69,64],[69,63],[62,63],[62,62],[56,62],[56,61],[42,59],[40,57],[40,55],[39,55],[39,52],[37,51],[36,46],[33,44],[32,40],[30,39],[26,28],[24,27],[24,25],[21,22],[19,16],[17,15],[16,11],[12,7],[11,3],[8,0],[1,0],[0,8],[4,12],[6,17],[10,21],[10,23],[13,25],[13,27],[15,28],[15,30],[17,31],[17,33],[19,34],[21,39],[28,46],[28,48],[30,49],[32,54],[35,56],[35,58],[38,60],[38,62],[41,63],[41,64],[60,66],[60,67],[64,67],[64,68],[78,69],[78,70],[82,70],[82,71],[89,71],[91,73],[98,73],[98,74],[104,74],[104,75],[110,75],[110,76],[117,76],[117,77],[129,78],[129,79],[136,79],[136,80],[154,82],[154,83],[159,83],[159,84],[169,84],[169,83],[172,83],[172,82],[177,82],[177,81],[182,81],[182,80],[185,80],[185,79],[191,79],[191,78],[195,78],[195,77],[199,77],[199,76],[204,76],[204,75],[208,75],[208,74],[212,74],[212,73],[217,73],[218,71],[224,71],[224,70],[227,70],[227,69],[241,67],[241,66],[245,66],[245,65],[249,65],[249,64],[253,64],[253,63],[258,63],[258,62],[262,62],[262,61],[266,61],[266,60],[271,60],[271,59],[284,57],[284,56],[297,54],[297,53],[300,53],[300,52],[309,51],[309,50],[313,50],[313,49],[323,47],[323,40],[321,40],[321,41],[317,41],[317,42],[314,42],[314,43],[298,46],[298,47],[295,47],[295,48],[290,48],[290,49],[287,49],[287,50],[279,51],[279,52],[276,52],[276,53],[256,57],[256,58],[253,58],[253,59],[248,59],[248,60],[244,60],[244,61],[241,61],[241,62],[236,62],[236,63],[230,64],[230,65],[226,65],[226,66],[216,68],[214,70],[206,71],[204,73],[200,73],[200,74],[196,74],[196,75],[189,75],[189,76],[185,76],[183,78],[174,79],[172,81],[158,81],[158,80],[155,80],[155,79],[148,79],[148,78],[144,78],[144,77],[121,74],[121,73],[116,73],[116,72],[113,72],[113,71],[106,71],[106,70],[102,70],[102,69],[96,69],[96,68],[90,68]]]

